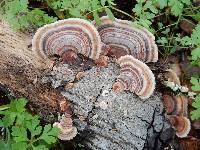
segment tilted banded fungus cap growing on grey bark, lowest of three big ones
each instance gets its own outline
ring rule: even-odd
[[[149,98],[155,89],[155,77],[150,68],[131,55],[121,56],[117,62],[121,70],[113,90],[130,90],[142,99]]]

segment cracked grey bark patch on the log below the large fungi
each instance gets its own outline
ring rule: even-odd
[[[62,91],[80,118],[74,120],[79,132],[88,132],[85,145],[94,150],[142,150],[148,132],[160,132],[166,123],[160,94],[141,100],[129,91],[113,92],[119,75],[114,63],[86,72],[72,89]]]

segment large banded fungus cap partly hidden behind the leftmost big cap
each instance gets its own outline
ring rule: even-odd
[[[93,21],[93,24],[95,22]],[[145,28],[130,26],[126,20],[110,20],[107,16],[101,17],[101,25],[97,26],[103,43],[110,46],[108,55],[119,58],[132,55],[143,62],[156,62],[158,48],[155,37]]]

